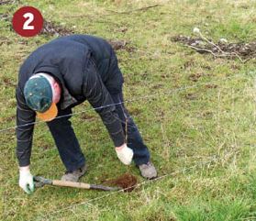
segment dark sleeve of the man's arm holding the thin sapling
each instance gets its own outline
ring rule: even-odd
[[[84,74],[83,94],[101,116],[115,146],[123,145],[125,143],[125,136],[119,116],[117,115],[116,106],[111,95],[106,90],[106,86],[102,82],[94,62],[90,59]]]

